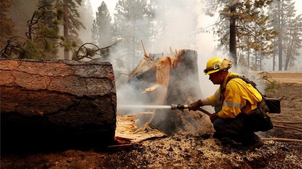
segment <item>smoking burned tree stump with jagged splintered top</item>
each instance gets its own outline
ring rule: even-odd
[[[153,90],[145,90],[148,91],[148,93],[143,94],[148,98],[146,104],[157,105],[159,103],[158,98],[163,100],[163,102],[160,101],[162,105],[190,104],[203,98],[198,77],[197,52],[195,50],[180,50],[179,53],[175,52],[175,54],[171,52],[167,59],[170,62],[170,69],[165,72],[166,75],[163,75],[163,78],[166,79],[161,81],[168,82],[168,84],[166,83],[157,89],[153,90],[155,86],[150,86],[158,83],[159,76],[155,76],[162,74],[162,72],[158,72],[158,68],[167,68],[164,67],[165,65],[160,65],[160,62],[166,61],[164,57],[153,60],[145,55],[145,58],[130,75],[129,83],[136,85],[134,88],[138,91],[144,91],[147,87]],[[164,97],[162,97],[163,95]],[[192,131],[201,123],[203,123],[205,132],[212,128],[206,115],[198,111],[189,112],[188,110],[157,109],[151,123],[166,134],[178,130]]]

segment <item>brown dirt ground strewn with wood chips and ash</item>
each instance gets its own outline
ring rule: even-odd
[[[266,91],[281,100],[281,114],[273,120],[302,120],[302,74],[278,72],[281,88]],[[274,78],[274,77],[273,77]],[[291,79],[291,80],[289,80]],[[301,129],[300,124],[282,124]],[[205,130],[209,120],[194,131],[178,132],[165,138],[146,140],[122,151],[79,151],[1,154],[1,168],[301,168],[301,143],[265,141],[254,151],[240,150],[229,139],[214,139]],[[274,128],[257,133],[261,137],[301,139],[301,131]]]

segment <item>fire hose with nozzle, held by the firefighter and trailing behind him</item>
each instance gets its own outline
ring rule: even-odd
[[[190,108],[190,105],[184,105],[184,104],[171,104],[171,110],[181,110],[183,111],[184,109],[188,109]],[[206,115],[210,116],[211,113],[209,111],[206,111],[205,109],[202,108],[196,108],[196,110],[201,111],[203,113],[205,113]],[[286,126],[279,126],[279,125],[274,125],[274,127],[283,127],[283,128],[290,128],[290,129],[296,129],[296,128],[292,128],[292,127],[286,127]],[[301,131],[301,129],[298,129],[299,131]],[[281,141],[281,142],[299,142],[302,143],[302,140],[297,140],[297,139],[285,139],[285,138],[261,138],[263,141]]]

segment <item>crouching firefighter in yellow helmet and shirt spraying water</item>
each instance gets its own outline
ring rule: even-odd
[[[229,72],[231,67],[231,61],[217,57],[207,62],[205,74],[209,74],[209,80],[220,87],[214,95],[190,104],[189,110],[196,111],[198,107],[211,105],[215,108],[215,113],[210,116],[215,129],[213,137],[228,137],[253,150],[264,144],[254,132],[268,131],[273,124],[264,96],[256,84]]]

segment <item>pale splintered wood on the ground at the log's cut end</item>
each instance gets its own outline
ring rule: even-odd
[[[139,114],[153,114],[150,112],[139,113]],[[136,114],[133,114],[136,115]],[[121,144],[127,143],[138,143],[145,139],[153,137],[163,137],[166,134],[156,129],[150,129],[146,131],[135,132],[137,128],[136,122],[138,119],[134,118],[133,115],[117,115],[116,117],[116,130],[114,140]]]

